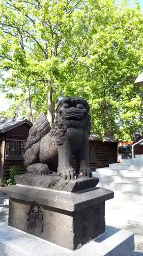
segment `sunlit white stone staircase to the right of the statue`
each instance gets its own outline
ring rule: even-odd
[[[93,176],[100,178],[99,186],[113,190],[116,198],[143,202],[143,155],[96,169]]]

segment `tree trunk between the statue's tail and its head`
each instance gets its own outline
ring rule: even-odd
[[[52,87],[47,90],[47,119],[52,127],[53,123],[53,102],[52,102]]]

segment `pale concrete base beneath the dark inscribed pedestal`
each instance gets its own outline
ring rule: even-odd
[[[31,234],[0,225],[1,256],[133,256],[134,234],[106,226],[104,234],[75,251],[48,243]]]

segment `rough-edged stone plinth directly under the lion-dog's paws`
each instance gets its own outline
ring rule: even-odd
[[[35,174],[22,174],[15,176],[16,184],[51,188],[60,191],[75,192],[83,189],[89,189],[95,187],[99,179],[88,178],[81,176],[75,180],[64,180],[57,174],[51,173],[47,176],[40,176]]]

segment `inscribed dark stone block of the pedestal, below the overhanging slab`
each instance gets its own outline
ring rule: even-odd
[[[105,231],[105,203],[84,211],[64,211],[10,199],[9,225],[54,244],[75,250]]]

